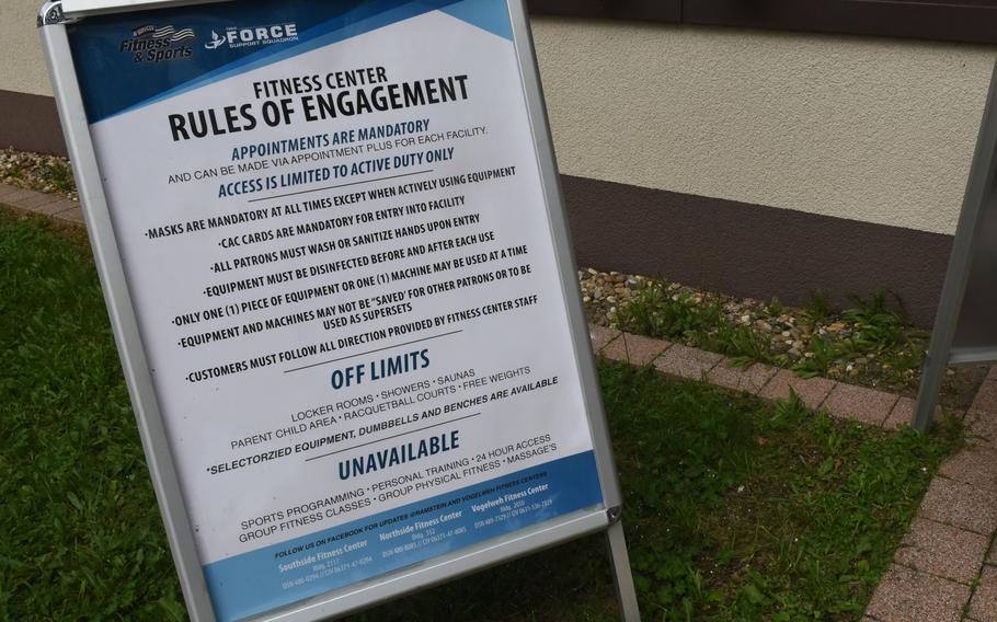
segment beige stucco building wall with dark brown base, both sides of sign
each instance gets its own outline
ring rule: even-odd
[[[65,150],[35,28],[0,2],[0,146]],[[930,322],[997,48],[537,16],[580,263]]]

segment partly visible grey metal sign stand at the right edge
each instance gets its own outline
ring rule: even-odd
[[[997,64],[910,425],[927,431],[950,365],[997,362]]]

